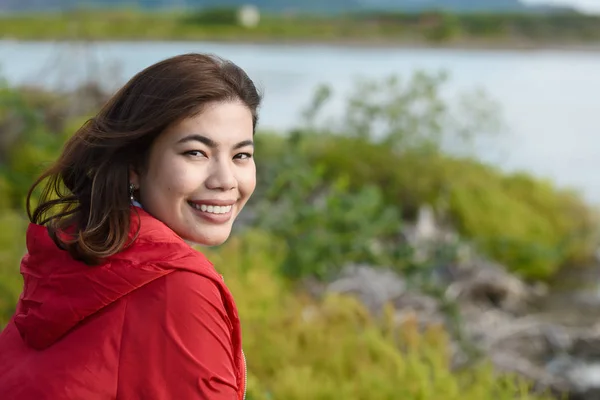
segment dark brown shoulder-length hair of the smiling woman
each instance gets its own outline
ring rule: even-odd
[[[129,170],[142,168],[156,137],[212,102],[241,101],[257,123],[259,95],[237,65],[212,55],[184,54],[144,69],[65,144],[32,185],[27,213],[71,256],[88,265],[127,246]],[[32,194],[41,188],[31,211]]]

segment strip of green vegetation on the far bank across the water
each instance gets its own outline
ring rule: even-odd
[[[323,3],[323,2],[320,2]],[[234,8],[197,12],[126,9],[0,16],[0,37],[25,40],[314,40],[381,43],[595,43],[600,18],[577,13],[354,13],[262,15],[258,27],[237,23]]]

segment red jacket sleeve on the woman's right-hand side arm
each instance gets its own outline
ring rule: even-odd
[[[237,399],[232,325],[217,285],[177,271],[138,292],[124,316],[117,398]]]

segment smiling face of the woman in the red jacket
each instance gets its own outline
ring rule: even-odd
[[[147,169],[131,173],[137,200],[183,239],[222,244],[256,186],[252,138],[248,107],[208,105],[155,140]]]

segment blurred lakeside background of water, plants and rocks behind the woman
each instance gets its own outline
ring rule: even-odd
[[[600,399],[600,0],[0,0],[0,329],[34,178],[185,52],[265,96],[201,249],[249,399]]]

